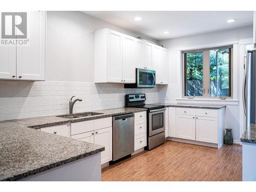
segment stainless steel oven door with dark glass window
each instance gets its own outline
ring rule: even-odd
[[[150,137],[165,131],[165,108],[151,110],[148,113],[148,128]]]

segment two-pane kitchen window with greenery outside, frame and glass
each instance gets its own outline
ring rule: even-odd
[[[183,97],[232,97],[232,47],[183,52]]]

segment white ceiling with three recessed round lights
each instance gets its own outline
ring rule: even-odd
[[[252,25],[253,11],[83,11],[156,40]],[[142,20],[136,21],[134,17]],[[227,23],[227,19],[236,22]],[[163,34],[169,31],[169,34]]]

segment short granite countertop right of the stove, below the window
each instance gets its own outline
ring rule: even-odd
[[[172,106],[175,108],[197,108],[197,109],[212,109],[212,110],[218,110],[221,108],[225,108],[226,105],[199,105],[199,104],[183,104],[183,103],[152,103],[152,104],[159,104],[159,105],[165,105],[166,107]]]

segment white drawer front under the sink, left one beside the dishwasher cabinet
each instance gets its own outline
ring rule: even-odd
[[[71,135],[86,133],[93,130],[94,130],[93,120],[71,123]]]

